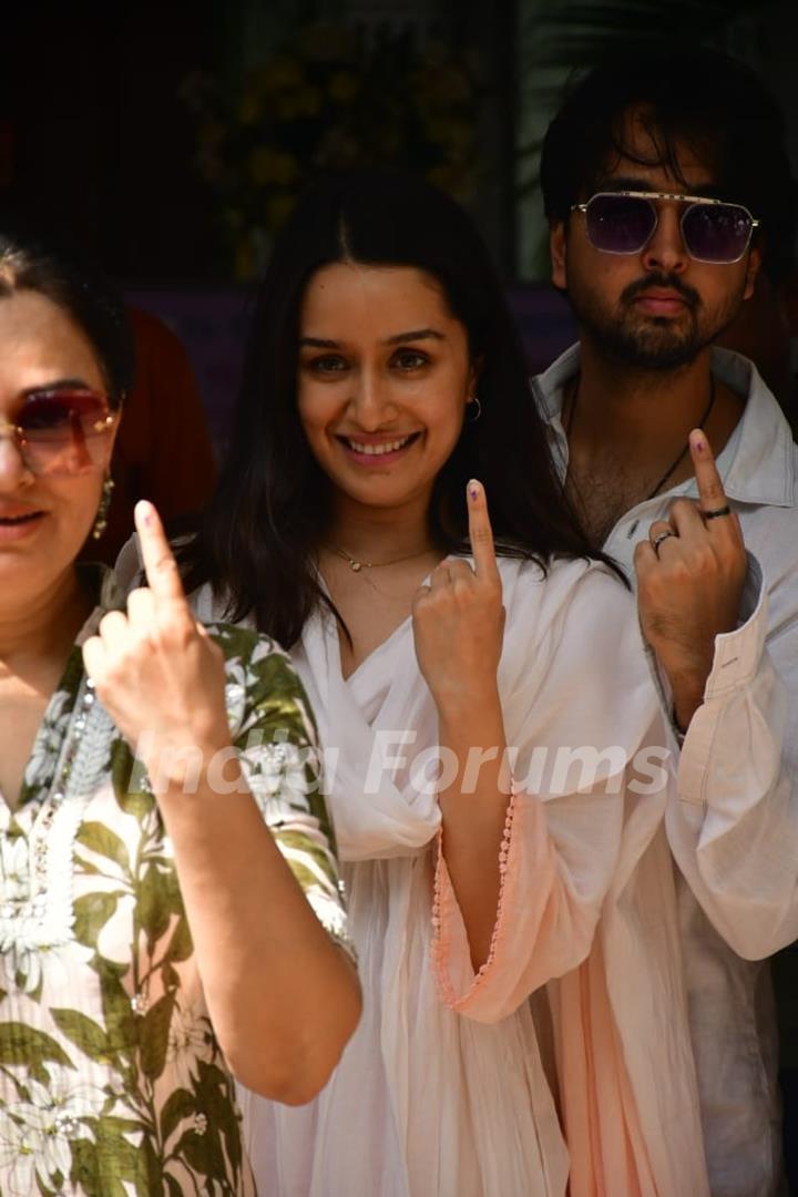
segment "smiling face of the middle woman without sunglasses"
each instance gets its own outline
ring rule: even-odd
[[[355,503],[418,493],[426,508],[477,372],[440,286],[412,267],[333,263],[309,284],[300,321],[299,415],[327,478]],[[357,339],[313,333],[339,327]]]

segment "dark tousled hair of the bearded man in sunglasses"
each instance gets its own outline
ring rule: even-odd
[[[550,221],[567,221],[601,182],[615,154],[634,160],[623,115],[645,113],[656,160],[683,186],[680,144],[713,172],[724,199],[762,221],[763,266],[778,284],[796,262],[798,192],[785,150],[784,116],[744,63],[719,51],[640,47],[616,50],[581,77],[549,124],[541,187]]]

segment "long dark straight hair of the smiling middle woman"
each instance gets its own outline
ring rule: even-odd
[[[516,326],[470,219],[419,178],[352,171],[307,192],[274,247],[252,317],[230,456],[196,536],[181,551],[187,589],[211,583],[230,619],[251,615],[286,646],[328,604],[315,554],[331,490],[299,420],[297,363],[305,287],[321,267],[341,261],[432,275],[480,363],[481,418],[464,421],[430,505],[441,549],[468,551],[465,484],[479,478],[499,552],[543,569],[555,553],[599,557],[564,497]]]

